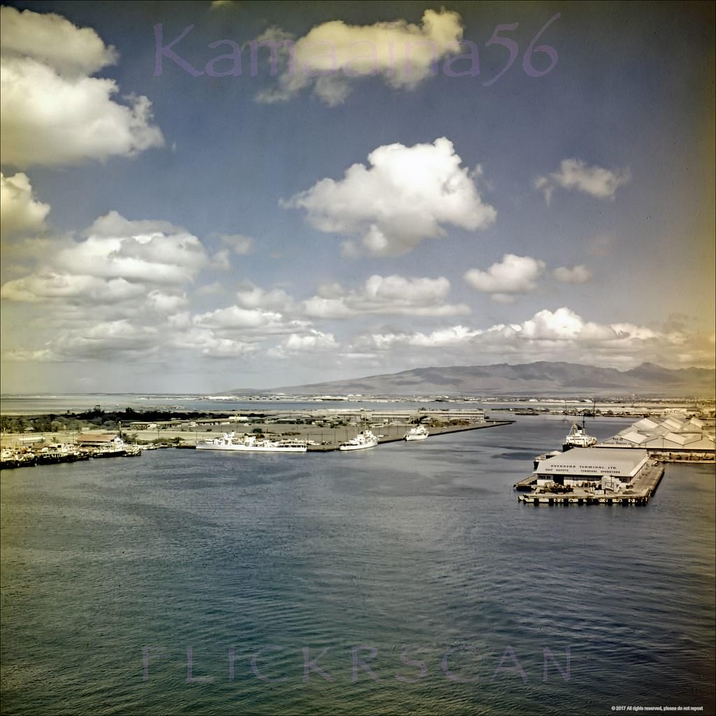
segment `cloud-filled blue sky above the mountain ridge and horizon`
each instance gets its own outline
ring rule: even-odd
[[[714,366],[713,4],[0,13],[2,392]]]

